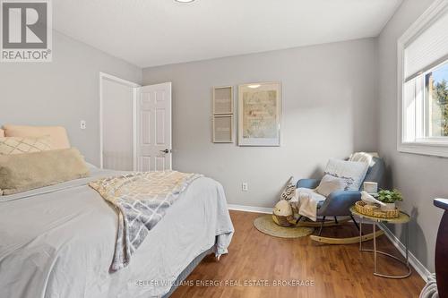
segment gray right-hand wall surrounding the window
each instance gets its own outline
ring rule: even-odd
[[[378,123],[380,152],[390,168],[389,181],[403,192],[401,207],[414,217],[410,224],[410,251],[434,271],[435,238],[442,211],[433,206],[432,199],[448,197],[448,159],[397,151],[397,39],[432,2],[404,1],[378,38]],[[403,238],[400,229],[395,234]]]

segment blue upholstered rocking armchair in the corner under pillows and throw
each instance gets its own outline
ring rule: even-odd
[[[374,158],[374,165],[370,166],[367,170],[366,178],[363,182],[375,182],[378,183],[378,188],[383,188],[383,177],[384,177],[384,161],[382,158]],[[316,188],[320,183],[319,179],[301,179],[297,181],[297,188]],[[362,183],[361,183],[362,188]],[[321,226],[319,230],[319,236],[322,234],[323,226],[328,225],[325,221],[326,217],[333,217],[334,223],[328,226],[335,226],[338,224],[338,217],[351,217],[353,223],[359,229],[358,223],[355,218],[351,215],[350,207],[352,207],[356,201],[361,200],[360,191],[338,191],[332,192],[326,200],[323,200],[318,205],[317,216],[322,217]],[[299,217],[298,221],[301,219]],[[315,237],[314,237],[315,238]],[[315,240],[315,239],[314,239]]]

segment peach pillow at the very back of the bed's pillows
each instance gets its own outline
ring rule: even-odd
[[[67,132],[62,126],[22,126],[4,125],[5,137],[51,137],[52,149],[69,149],[70,141]]]

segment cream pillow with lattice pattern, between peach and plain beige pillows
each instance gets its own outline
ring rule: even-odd
[[[0,137],[0,154],[21,154],[51,150],[50,136]]]

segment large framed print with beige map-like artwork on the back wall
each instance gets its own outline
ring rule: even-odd
[[[280,146],[280,82],[238,86],[238,145]]]

